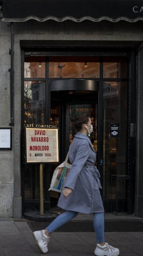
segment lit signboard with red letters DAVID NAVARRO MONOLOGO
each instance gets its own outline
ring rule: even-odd
[[[57,150],[57,152],[56,152],[53,160],[52,159],[50,160],[51,153],[48,152],[49,151],[49,146],[48,146],[49,138],[50,138],[49,143],[51,143],[51,140],[52,140],[52,136],[51,137],[47,136],[48,131],[49,131],[49,133],[54,132],[54,135],[56,136],[56,137],[54,137],[54,140],[56,143],[55,149]],[[34,133],[32,133],[32,132],[34,132]],[[39,133],[41,133],[41,134],[39,134]],[[44,137],[45,137],[45,141],[44,141]],[[31,140],[33,140],[33,141],[35,139],[34,146],[30,146],[30,143],[31,143],[29,141],[30,138],[32,138]],[[39,141],[36,142],[36,139],[39,140],[38,138],[40,138],[40,140],[42,140],[42,142],[39,142]],[[43,139],[41,139],[41,138],[43,138]],[[58,128],[36,128],[36,127],[29,128],[29,127],[25,127],[25,145],[26,145],[26,147],[25,147],[26,159],[25,160],[26,160],[27,164],[59,163],[59,130],[58,130]],[[48,149],[48,151],[47,151],[47,149]],[[32,150],[32,151],[30,151],[30,150]],[[54,148],[52,148],[52,150],[54,151]],[[40,153],[40,152],[42,152],[42,153]],[[36,155],[34,156],[34,155],[32,155],[32,153],[36,154]]]

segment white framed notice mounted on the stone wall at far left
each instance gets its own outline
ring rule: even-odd
[[[12,128],[0,127],[0,150],[12,150]]]

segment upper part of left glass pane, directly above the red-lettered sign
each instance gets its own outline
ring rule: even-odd
[[[45,123],[45,82],[25,81],[25,124]]]

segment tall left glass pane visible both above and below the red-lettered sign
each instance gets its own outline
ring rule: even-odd
[[[45,82],[25,81],[24,109],[25,125],[45,124]],[[39,199],[39,165],[25,164],[24,179],[25,199]]]

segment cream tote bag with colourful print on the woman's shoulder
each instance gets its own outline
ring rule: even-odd
[[[69,152],[67,153],[65,161],[58,165],[58,167],[56,167],[56,169],[54,170],[49,190],[56,192],[62,191],[63,185],[65,183],[65,178],[67,176],[69,169],[71,168],[71,164],[67,162],[68,158]]]

